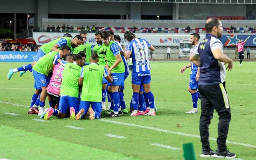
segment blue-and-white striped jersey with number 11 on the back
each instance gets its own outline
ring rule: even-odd
[[[149,71],[148,48],[151,44],[145,39],[135,38],[128,43],[126,50],[132,51],[132,72]]]

